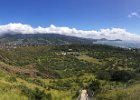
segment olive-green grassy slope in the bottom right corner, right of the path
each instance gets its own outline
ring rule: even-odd
[[[97,98],[99,100],[140,100],[140,83],[127,88],[114,88],[101,92]]]

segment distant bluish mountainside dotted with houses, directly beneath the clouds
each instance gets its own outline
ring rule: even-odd
[[[92,39],[59,34],[5,34],[0,37],[2,46],[92,44]]]

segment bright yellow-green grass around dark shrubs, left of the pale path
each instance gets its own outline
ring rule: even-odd
[[[75,92],[63,91],[63,90],[56,90],[56,89],[50,89],[47,90],[40,85],[28,82],[27,80],[24,80],[22,78],[16,77],[16,81],[12,82],[7,80],[13,75],[9,75],[5,72],[1,71],[0,74],[0,100],[28,100],[29,98],[21,93],[21,86],[27,87],[28,89],[34,90],[35,88],[38,88],[39,90],[45,90],[45,93],[51,93],[52,100],[72,100],[72,96],[75,94]],[[39,78],[36,78],[39,79]],[[39,79],[45,82],[46,84],[52,85],[53,83],[50,83],[52,79]]]

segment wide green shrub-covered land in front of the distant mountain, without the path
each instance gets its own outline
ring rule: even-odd
[[[0,49],[1,100],[139,100],[139,49],[52,45]]]

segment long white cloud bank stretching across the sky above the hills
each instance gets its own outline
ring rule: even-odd
[[[125,29],[121,29],[121,28],[100,29],[99,31],[96,30],[84,31],[84,30],[78,30],[76,28],[56,27],[55,25],[50,25],[49,27],[46,28],[41,26],[33,28],[28,24],[21,24],[21,23],[9,23],[6,25],[0,25],[0,35],[6,33],[11,33],[11,34],[52,33],[52,34],[61,34],[61,35],[76,36],[76,37],[83,37],[83,38],[92,38],[92,39],[107,38],[107,39],[140,41],[139,35],[130,33]]]

